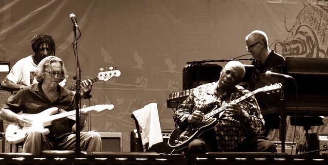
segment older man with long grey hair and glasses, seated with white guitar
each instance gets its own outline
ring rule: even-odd
[[[54,56],[44,58],[36,71],[38,83],[19,90],[4,105],[0,116],[18,123],[20,127],[28,127],[32,126],[34,121],[28,116],[18,115],[20,111],[24,114],[38,114],[53,107],[57,107],[58,113],[63,109],[72,111],[75,95],[72,91],[58,85],[66,76],[66,69],[60,58]],[[92,83],[83,85],[86,88],[85,93],[90,93]],[[49,129],[47,133],[37,129],[29,130],[24,137],[23,152],[40,154],[43,150],[74,150],[76,126],[83,128],[87,116],[87,113],[81,112],[81,123],[77,125],[74,120],[68,118],[53,120],[51,125],[46,127]],[[96,132],[80,133],[80,146],[82,151],[100,151],[100,135]]]

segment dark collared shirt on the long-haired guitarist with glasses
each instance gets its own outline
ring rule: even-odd
[[[51,107],[58,107],[65,111],[72,111],[75,107],[75,99],[72,91],[57,86],[59,97],[51,102],[44,94],[40,83],[36,83],[21,89],[17,94],[8,100],[4,105],[5,109],[10,109],[14,113],[23,111],[26,114],[37,114]],[[40,116],[47,117],[47,116]],[[52,125],[46,128],[50,130],[48,137],[60,137],[64,134],[72,133],[72,126],[75,121],[68,118],[61,118],[52,121]]]

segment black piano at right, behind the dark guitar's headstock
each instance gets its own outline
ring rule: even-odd
[[[295,79],[285,79],[285,114],[294,116],[328,116],[328,59],[287,57],[282,69]],[[279,78],[260,75],[258,87],[280,82]],[[298,95],[296,93],[296,87]],[[266,96],[264,96],[266,95]],[[278,114],[280,94],[260,94],[256,96],[263,115]],[[297,102],[298,99],[298,102]],[[296,108],[297,107],[297,108]]]

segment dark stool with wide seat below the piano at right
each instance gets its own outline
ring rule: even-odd
[[[323,125],[323,116],[291,116],[291,125],[303,126],[305,131],[304,146],[300,148],[299,153],[306,153],[309,150],[309,130],[312,126]]]

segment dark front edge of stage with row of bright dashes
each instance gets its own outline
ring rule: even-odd
[[[328,155],[288,155],[285,153],[207,153],[194,154],[195,164],[328,164]],[[0,154],[1,165],[179,165],[185,164],[180,154],[158,154],[155,152],[84,152],[79,155],[28,155]]]

